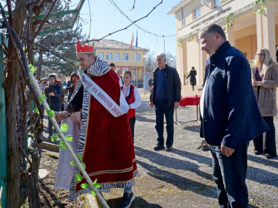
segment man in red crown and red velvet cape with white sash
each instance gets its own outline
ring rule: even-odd
[[[138,175],[131,128],[125,113],[129,106],[124,103],[116,73],[106,61],[95,57],[92,46],[78,42],[76,56],[80,65],[79,80],[68,106],[76,111],[71,115],[72,120],[81,121],[78,152],[90,179],[97,179],[101,184],[99,191],[124,189],[120,207],[129,207],[135,198],[131,188]],[[67,117],[69,112],[65,110],[59,116]],[[74,175],[76,173],[81,173],[77,166]],[[82,193],[90,193],[90,188],[81,188],[84,182],[85,179],[76,182],[72,177],[70,202]]]

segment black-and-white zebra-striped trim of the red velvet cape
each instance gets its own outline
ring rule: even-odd
[[[94,64],[92,64],[89,69],[88,69],[88,74],[93,74],[94,76],[101,76],[104,73],[107,73],[110,70],[110,67],[108,63],[104,60],[101,60],[99,57],[97,57],[96,61]],[[76,84],[76,87],[74,89],[74,93],[72,94],[72,99],[74,96],[76,96],[77,92],[79,91],[80,87],[82,86],[82,82],[79,79],[78,83]],[[87,89],[84,87],[84,93],[83,93],[83,106],[82,106],[82,120],[81,120],[81,130],[80,130],[80,138],[79,138],[79,147],[78,147],[78,152],[79,155],[83,155],[84,151],[84,145],[85,145],[85,139],[86,139],[86,129],[87,129],[87,121],[88,121],[88,108],[89,108],[89,100],[90,100],[90,92],[88,92]],[[90,114],[92,116],[92,114]],[[79,168],[77,166],[74,167],[74,175],[76,173],[79,173]],[[90,175],[90,174],[89,174]],[[138,176],[138,171],[134,173],[134,177]],[[134,179],[126,182],[126,183],[106,183],[106,184],[101,184],[101,189],[111,189],[111,188],[127,188],[131,187],[135,184]],[[83,193],[90,193],[92,190],[90,188],[88,189],[82,189],[81,191],[78,191],[75,193],[75,188],[76,188],[76,180],[74,179],[74,176],[72,177],[72,182],[70,184],[70,196],[69,196],[69,201],[72,202],[76,200],[77,197],[81,196]]]

